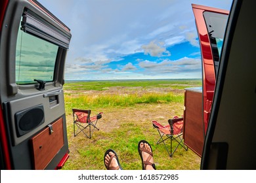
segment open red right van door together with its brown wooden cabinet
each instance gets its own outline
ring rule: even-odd
[[[202,88],[185,90],[184,143],[202,156],[228,10],[192,5],[202,53]]]

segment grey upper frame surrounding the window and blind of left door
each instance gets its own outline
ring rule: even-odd
[[[36,88],[39,84],[17,85],[15,76],[15,61],[16,61],[16,41],[18,36],[18,29],[20,29],[20,18],[24,14],[24,10],[28,9],[35,12],[38,17],[47,22],[47,24],[64,34],[70,41],[72,34],[69,27],[62,23],[56,16],[51,14],[39,3],[28,3],[27,1],[10,1],[7,12],[11,12],[12,16],[6,16],[3,21],[1,31],[1,46],[5,49],[1,49],[1,84],[0,92],[3,94],[1,101],[8,101],[9,99],[22,98],[32,93],[38,93]],[[63,46],[58,47],[58,56],[56,57],[56,65],[54,68],[54,80],[53,82],[47,82],[45,84],[46,91],[54,90],[54,88],[62,88],[64,84],[64,65],[68,48]],[[53,86],[53,87],[52,87]]]

